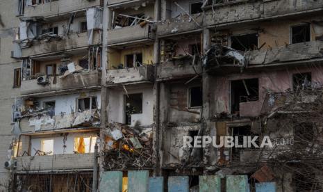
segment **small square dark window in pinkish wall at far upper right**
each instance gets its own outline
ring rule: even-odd
[[[310,24],[292,26],[292,43],[310,41]]]

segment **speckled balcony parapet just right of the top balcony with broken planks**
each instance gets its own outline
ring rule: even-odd
[[[203,16],[201,14],[192,15],[195,23],[188,15],[167,19],[165,22],[158,23],[157,35],[163,37],[173,34],[183,34],[185,32],[201,31],[203,29]]]

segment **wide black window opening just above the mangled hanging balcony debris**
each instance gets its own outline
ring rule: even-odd
[[[258,33],[231,36],[231,47],[239,51],[258,49]]]

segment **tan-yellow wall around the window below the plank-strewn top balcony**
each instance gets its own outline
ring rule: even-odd
[[[134,47],[130,49],[109,49],[108,65],[111,70],[116,69],[119,64],[125,66],[126,55],[142,53],[142,64],[151,65],[154,61],[154,46]]]

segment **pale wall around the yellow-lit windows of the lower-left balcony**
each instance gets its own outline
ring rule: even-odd
[[[36,150],[41,150],[42,139],[51,139],[53,138],[53,154],[74,154],[74,138],[75,137],[88,137],[88,136],[97,136],[97,134],[92,132],[85,133],[71,133],[67,136],[62,135],[47,135],[47,136],[33,136],[31,137],[31,156],[35,155]]]

